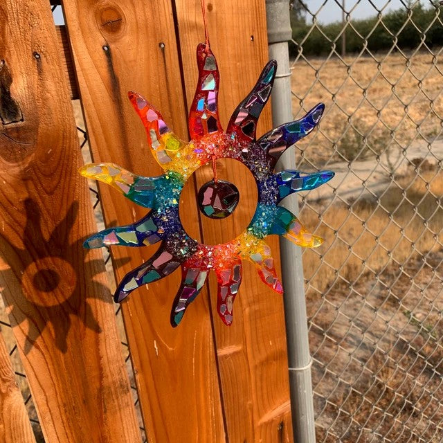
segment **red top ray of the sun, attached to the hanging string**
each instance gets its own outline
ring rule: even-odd
[[[222,131],[217,108],[220,73],[213,51],[206,44],[197,46],[199,80],[189,111],[189,133],[192,140]]]

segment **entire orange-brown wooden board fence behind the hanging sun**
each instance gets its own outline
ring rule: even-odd
[[[101,251],[82,240],[96,232],[71,107],[79,96],[94,161],[160,174],[129,89],[161,109],[187,138],[204,39],[197,0],[69,0],[66,28],[48,0],[0,3],[0,287],[46,442],[140,442]],[[206,4],[221,70],[221,122],[251,89],[267,60],[264,0]],[[259,132],[271,127],[269,107]],[[251,174],[226,161],[220,177],[243,197],[232,217],[200,219],[201,168],[180,201],[183,224],[208,244],[240,233],[255,209]],[[145,211],[100,186],[105,224]],[[278,257],[278,242],[270,242]],[[149,248],[115,248],[116,278]],[[127,258],[129,257],[129,258]],[[126,260],[120,260],[126,258]],[[150,442],[291,442],[282,298],[246,264],[231,327],[206,290],[176,329],[170,306],[179,273],[123,302],[138,397]],[[0,442],[35,441],[0,341]]]

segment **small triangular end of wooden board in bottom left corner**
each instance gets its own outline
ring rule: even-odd
[[[0,442],[35,443],[23,397],[0,331]]]

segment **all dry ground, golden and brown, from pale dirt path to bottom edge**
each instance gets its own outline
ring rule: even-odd
[[[303,254],[318,442],[442,440],[443,171],[417,163],[376,198],[302,207],[326,240]]]

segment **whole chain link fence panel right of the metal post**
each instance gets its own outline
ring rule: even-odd
[[[442,442],[443,10],[347,3],[291,12],[293,114],[326,105],[298,169],[336,172],[300,202],[316,437]]]

